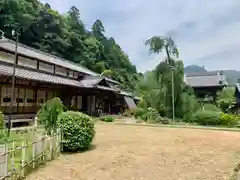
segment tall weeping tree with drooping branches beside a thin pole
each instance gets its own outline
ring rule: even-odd
[[[154,72],[158,83],[160,84],[159,95],[164,92],[164,103],[166,107],[166,113],[170,116],[172,112],[172,118],[175,118],[175,102],[177,96],[174,96],[176,88],[175,82],[179,82],[179,76],[183,75],[183,63],[181,61],[174,61],[175,58],[179,57],[179,52],[176,44],[171,37],[153,36],[145,42],[145,45],[149,46],[149,52],[159,54],[165,52],[166,58],[164,61],[159,62]],[[177,79],[176,79],[177,78]],[[177,81],[174,82],[174,79]],[[171,102],[172,101],[172,102]],[[172,107],[171,107],[172,105]]]

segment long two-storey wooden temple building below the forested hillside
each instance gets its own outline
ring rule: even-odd
[[[85,67],[18,43],[13,108],[10,109],[15,42],[0,40],[0,107],[5,119],[33,119],[41,105],[60,97],[71,110],[89,115],[118,114],[139,99],[119,82]]]

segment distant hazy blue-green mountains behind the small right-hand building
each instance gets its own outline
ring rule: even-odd
[[[184,68],[184,72],[186,74],[193,74],[193,73],[204,73],[204,72],[219,72],[223,71],[227,78],[227,82],[229,85],[235,85],[237,80],[240,78],[240,71],[236,70],[216,70],[216,71],[207,71],[204,67],[198,65],[190,65]]]

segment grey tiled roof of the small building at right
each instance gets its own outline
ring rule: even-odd
[[[186,75],[186,83],[191,87],[227,85],[226,77],[219,72]]]

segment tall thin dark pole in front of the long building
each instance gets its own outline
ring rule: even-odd
[[[15,57],[14,57],[14,63],[13,63],[13,73],[12,73],[12,88],[11,88],[11,104],[10,104],[10,112],[8,117],[8,136],[10,135],[11,131],[11,120],[12,120],[12,113],[13,113],[13,104],[15,99],[15,73],[16,73],[16,64],[17,64],[17,57],[18,57],[18,37],[19,33],[17,31],[12,31],[12,35],[16,36],[16,42],[15,42]]]

